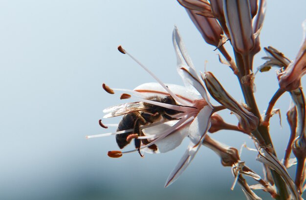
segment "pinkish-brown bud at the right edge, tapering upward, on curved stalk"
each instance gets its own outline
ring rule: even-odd
[[[298,55],[292,61],[284,72],[278,75],[281,89],[291,91],[297,89],[301,85],[301,77],[306,73],[306,20],[302,24],[304,30],[304,38]]]

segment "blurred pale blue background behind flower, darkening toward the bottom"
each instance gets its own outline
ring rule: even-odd
[[[270,0],[261,32],[262,47],[271,45],[294,59],[302,41],[306,1]],[[168,188],[164,183],[183,155],[188,141],[167,154],[144,158],[117,150],[114,136],[98,120],[103,109],[122,103],[102,89],[133,89],[154,82],[128,56],[121,44],[165,83],[182,85],[176,73],[172,30],[177,25],[197,70],[213,71],[225,89],[242,101],[232,71],[218,61],[175,0],[1,0],[0,3],[0,199],[1,200],[235,200],[244,199],[219,157],[202,147],[182,176]],[[227,47],[229,47],[227,45]],[[254,68],[260,66],[261,51]],[[205,64],[205,62],[207,63]],[[263,112],[278,88],[275,69],[255,79]],[[305,81],[304,81],[305,85]],[[278,156],[284,156],[289,130],[285,113],[288,94],[271,118],[271,135]],[[235,116],[223,111],[227,122]],[[104,119],[118,123],[121,118]],[[211,136],[240,148],[248,137],[219,132]],[[133,146],[127,147],[132,149]],[[241,159],[262,175],[256,153],[243,150]],[[294,167],[289,170],[294,174]],[[251,181],[251,180],[250,180]],[[252,181],[251,181],[252,182]],[[258,194],[270,199],[263,192]]]

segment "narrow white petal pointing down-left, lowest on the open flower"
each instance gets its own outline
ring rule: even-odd
[[[172,184],[184,172],[184,170],[188,167],[192,159],[196,156],[200,146],[202,145],[195,145],[193,142],[190,142],[186,152],[179,160],[174,170],[170,173],[166,181],[165,187],[168,187],[170,184]]]

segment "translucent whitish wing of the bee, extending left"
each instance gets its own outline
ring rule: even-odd
[[[116,106],[111,106],[103,112],[106,112],[104,118],[109,118],[109,117],[115,117],[123,114],[128,114],[134,111],[143,111],[145,110],[145,106],[143,105],[142,102],[130,102],[130,103],[125,103],[125,104],[119,104]]]

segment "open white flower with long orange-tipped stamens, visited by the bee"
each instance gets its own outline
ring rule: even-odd
[[[185,84],[184,87],[172,84],[163,84],[151,71],[149,71],[148,68],[144,67],[120,46],[118,49],[122,53],[128,54],[141,67],[148,71],[158,83],[142,84],[133,90],[112,89],[114,91],[124,91],[125,97],[134,98],[137,102],[112,106],[104,110],[104,112],[108,113],[105,116],[107,118],[131,112],[137,112],[137,114],[139,114],[141,111],[145,111],[146,105],[155,105],[159,108],[162,107],[168,109],[168,111],[171,109],[171,111],[174,112],[171,115],[171,118],[159,117],[158,119],[153,120],[153,123],[147,122],[141,124],[139,126],[140,131],[137,131],[143,133],[142,135],[132,134],[136,128],[134,126],[128,130],[120,130],[115,133],[87,136],[87,138],[91,138],[129,133],[130,135],[126,137],[129,142],[131,139],[142,141],[140,142],[141,146],[135,150],[126,152],[110,151],[109,156],[111,157],[120,157],[122,154],[136,151],[138,151],[139,154],[141,154],[140,151],[165,153],[175,149],[181,144],[182,140],[188,136],[190,144],[178,164],[175,166],[175,169],[168,177],[165,187],[169,186],[179,177],[196,155],[205,137],[205,133],[210,128],[210,117],[213,112],[213,107],[208,100],[204,83],[198,76],[176,27],[173,31],[173,44],[177,56],[177,71],[183,79]],[[175,100],[175,103],[168,104],[151,100],[153,96],[158,96],[160,98],[171,96]],[[151,114],[154,115],[155,113]]]

